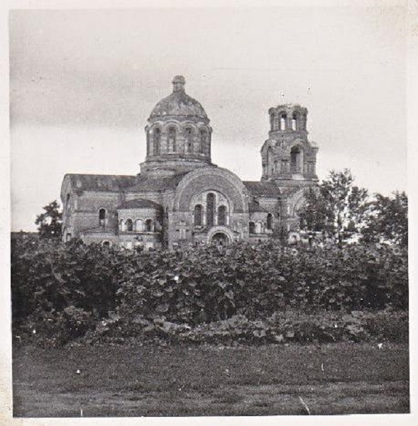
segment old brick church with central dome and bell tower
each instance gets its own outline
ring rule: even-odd
[[[145,127],[146,157],[134,176],[66,174],[62,238],[143,250],[263,241],[297,233],[304,191],[317,184],[317,145],[307,109],[270,108],[260,181],[211,162],[212,129],[185,78],[158,102]]]

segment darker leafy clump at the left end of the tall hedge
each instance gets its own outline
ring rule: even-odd
[[[66,342],[116,306],[113,254],[99,246],[16,240],[11,254],[15,329]]]

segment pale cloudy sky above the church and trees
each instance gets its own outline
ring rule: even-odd
[[[12,230],[35,230],[66,173],[137,174],[177,74],[241,179],[260,179],[268,108],[300,103],[319,179],[405,190],[405,27],[389,6],[11,11]]]

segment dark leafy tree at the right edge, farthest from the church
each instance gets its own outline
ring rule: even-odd
[[[370,203],[371,220],[362,232],[364,242],[390,242],[408,245],[408,197],[405,191],[392,196],[375,194]]]

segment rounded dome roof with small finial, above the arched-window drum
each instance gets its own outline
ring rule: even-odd
[[[185,77],[179,75],[172,81],[173,91],[162,99],[151,111],[150,118],[184,116],[207,118],[202,105],[185,92]]]

